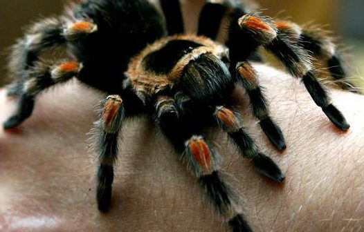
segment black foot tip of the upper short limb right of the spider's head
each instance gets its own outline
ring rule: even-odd
[[[286,142],[280,127],[270,117],[260,121],[260,127],[268,137],[269,141],[280,151],[286,149]]]

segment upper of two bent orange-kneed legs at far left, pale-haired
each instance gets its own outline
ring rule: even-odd
[[[15,76],[15,81],[8,88],[9,96],[20,96],[25,82],[39,56],[45,50],[62,46],[68,41],[80,39],[97,30],[97,26],[87,21],[77,21],[64,26],[55,18],[48,18],[35,23],[27,32],[26,37],[13,46],[9,69]]]

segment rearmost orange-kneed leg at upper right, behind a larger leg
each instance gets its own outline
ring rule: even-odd
[[[357,92],[353,84],[347,80],[347,70],[340,58],[340,52],[336,48],[334,41],[326,35],[325,30],[318,27],[303,27],[291,21],[277,20],[275,26],[278,30],[289,35],[289,38],[298,43],[304,50],[309,51],[322,62],[326,63],[327,68],[337,80],[337,84],[347,90]]]

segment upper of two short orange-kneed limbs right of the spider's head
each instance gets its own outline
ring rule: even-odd
[[[251,99],[253,115],[260,120],[260,127],[266,134],[266,137],[278,150],[284,150],[286,142],[284,141],[283,133],[269,116],[266,99],[259,86],[254,68],[247,61],[239,62],[236,73],[239,83],[246,89]]]

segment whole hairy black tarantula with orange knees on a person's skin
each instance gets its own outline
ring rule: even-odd
[[[223,19],[229,22],[225,44],[214,41]],[[316,79],[309,54],[327,62],[336,79],[345,77],[345,70],[329,38],[289,21],[248,13],[246,5],[237,1],[206,1],[197,34],[183,34],[179,1],[84,0],[62,17],[42,19],[13,47],[10,71],[15,81],[8,95],[19,101],[17,112],[3,127],[24,122],[39,93],[75,77],[109,95],[95,122],[100,211],[107,211],[111,203],[122,124],[128,117],[147,113],[180,151],[181,160],[212,205],[228,218],[231,229],[252,231],[239,197],[219,173],[221,157],[203,136],[203,127],[218,124],[257,171],[282,182],[280,168],[259,151],[228,104],[235,84],[245,88],[262,131],[278,150],[284,150],[284,136],[269,115],[251,65],[251,60],[260,59],[257,49],[270,50],[286,70],[301,78],[313,101],[343,131],[349,124]],[[66,46],[71,59],[42,59],[44,51],[57,46]]]

